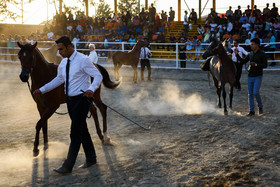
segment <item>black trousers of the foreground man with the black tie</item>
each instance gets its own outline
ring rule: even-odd
[[[83,95],[66,98],[68,112],[72,122],[70,132],[71,143],[67,159],[63,165],[71,170],[76,162],[81,144],[84,148],[86,161],[96,162],[95,149],[86,123],[87,114],[90,108],[90,102],[88,101],[92,102],[91,99],[83,97]]]

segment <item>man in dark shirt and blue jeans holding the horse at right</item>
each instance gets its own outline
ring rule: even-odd
[[[247,116],[255,115],[254,97],[258,103],[259,114],[263,114],[263,104],[260,95],[260,88],[263,77],[263,68],[267,67],[267,57],[266,54],[260,50],[260,40],[258,38],[253,38],[251,40],[252,52],[246,56],[245,59],[239,56],[237,50],[234,51],[237,59],[242,63],[246,64],[250,61],[249,71],[248,71],[248,93],[249,93],[249,107],[250,112]]]

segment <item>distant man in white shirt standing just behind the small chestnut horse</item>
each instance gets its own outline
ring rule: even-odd
[[[146,41],[147,42],[147,41]],[[142,47],[140,52],[140,63],[141,63],[141,79],[144,80],[144,70],[147,66],[148,69],[148,80],[151,81],[151,64],[149,60],[149,56],[152,53],[148,47]]]

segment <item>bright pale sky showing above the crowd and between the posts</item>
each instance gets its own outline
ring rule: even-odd
[[[23,22],[24,24],[40,24],[43,21],[47,19],[52,19],[53,15],[55,14],[55,7],[54,5],[48,5],[47,2],[49,0],[34,0],[32,3],[28,3],[29,0],[23,0],[24,5],[24,14],[23,14]],[[99,0],[96,0],[99,2]],[[111,5],[111,9],[114,10],[114,0],[105,0],[108,4]],[[57,1],[58,2],[58,1]],[[63,0],[64,3],[67,5],[76,3],[73,0]],[[187,5],[185,4],[187,3]],[[202,9],[205,6],[207,0],[201,0],[202,4]],[[212,2],[213,0],[209,0],[208,4],[206,5],[206,8],[204,12],[202,13],[203,15],[207,15],[210,12],[210,8],[212,8]],[[257,5],[258,8],[261,10],[265,7],[266,3],[270,3],[270,7],[272,7],[272,3],[275,2],[277,7],[280,7],[280,2],[279,0],[255,0],[255,4]],[[145,0],[140,0],[140,4],[144,5]],[[166,11],[167,13],[169,12],[170,7],[175,10],[175,20],[178,19],[178,0],[148,0],[148,4],[150,6],[151,3],[155,4],[155,7],[157,9],[157,12],[161,12],[161,10]],[[189,8],[194,8],[195,11],[198,13],[198,6],[199,6],[199,1],[198,0],[181,0],[181,20],[184,17],[184,11],[188,10],[187,7]],[[58,3],[57,3],[58,4]],[[237,1],[237,0],[216,0],[216,8],[217,12],[219,13],[224,13],[229,6],[232,6],[232,9],[235,10],[238,5],[241,5],[241,9],[245,10],[247,8],[247,5],[251,5],[251,0],[242,0],[242,1]],[[19,5],[18,7],[12,6],[10,8],[11,10],[17,12],[19,15],[21,15],[21,6]],[[58,9],[58,7],[57,7]],[[81,6],[81,10],[85,11],[84,7]],[[189,12],[189,11],[188,11]],[[95,15],[95,7],[90,6],[89,7],[89,15]],[[16,23],[16,24],[21,24],[22,23],[22,18],[17,19],[16,21],[13,20],[6,20],[2,21],[1,23]]]

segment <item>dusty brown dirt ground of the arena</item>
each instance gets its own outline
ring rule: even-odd
[[[98,164],[78,168],[85,159],[81,148],[69,175],[53,168],[66,157],[70,119],[50,118],[49,149],[44,152],[41,134],[34,158],[39,115],[19,73],[19,64],[0,64],[0,186],[280,186],[278,71],[264,73],[265,114],[246,117],[246,72],[242,90],[234,90],[233,110],[224,116],[205,72],[153,69],[151,82],[134,84],[124,67],[118,89],[102,88],[103,102],[151,130],[108,109],[113,146],[104,146],[88,119]],[[65,104],[58,111],[65,112]]]

